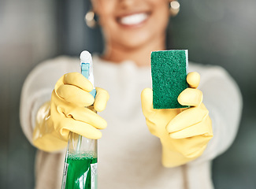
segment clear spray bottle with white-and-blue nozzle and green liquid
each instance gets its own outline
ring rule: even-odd
[[[90,80],[93,86],[94,76],[91,54],[84,50],[80,54],[80,60],[81,73]],[[90,91],[90,94],[95,98],[95,88]],[[96,113],[93,105],[87,108]],[[70,132],[62,178],[62,189],[97,189],[97,160],[97,140],[87,139]]]

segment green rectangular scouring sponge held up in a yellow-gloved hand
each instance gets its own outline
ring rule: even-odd
[[[187,50],[161,50],[151,53],[154,109],[187,108],[177,98],[187,88]]]

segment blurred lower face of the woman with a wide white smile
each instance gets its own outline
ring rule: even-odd
[[[168,0],[92,0],[107,45],[134,49],[165,35]]]

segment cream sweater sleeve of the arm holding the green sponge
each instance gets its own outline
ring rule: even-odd
[[[210,161],[228,150],[239,128],[242,112],[242,95],[236,82],[221,67],[199,70],[201,83],[198,87],[203,94],[203,103],[209,110],[213,127],[210,140],[201,157],[189,164]]]

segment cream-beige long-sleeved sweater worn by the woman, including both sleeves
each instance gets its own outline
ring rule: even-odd
[[[224,69],[189,64],[189,72],[201,74],[199,89],[213,120],[213,139],[195,161],[176,168],[161,165],[161,144],[147,129],[141,110],[140,93],[151,87],[150,68],[138,68],[132,61],[119,65],[93,57],[95,86],[109,91],[108,122],[98,141],[99,189],[207,189],[213,188],[211,160],[232,144],[242,109],[239,88]],[[24,83],[20,122],[32,142],[35,115],[50,100],[56,81],[67,72],[80,72],[80,60],[57,57],[38,65]],[[35,188],[61,188],[65,149],[55,153],[38,150],[35,161]]]

